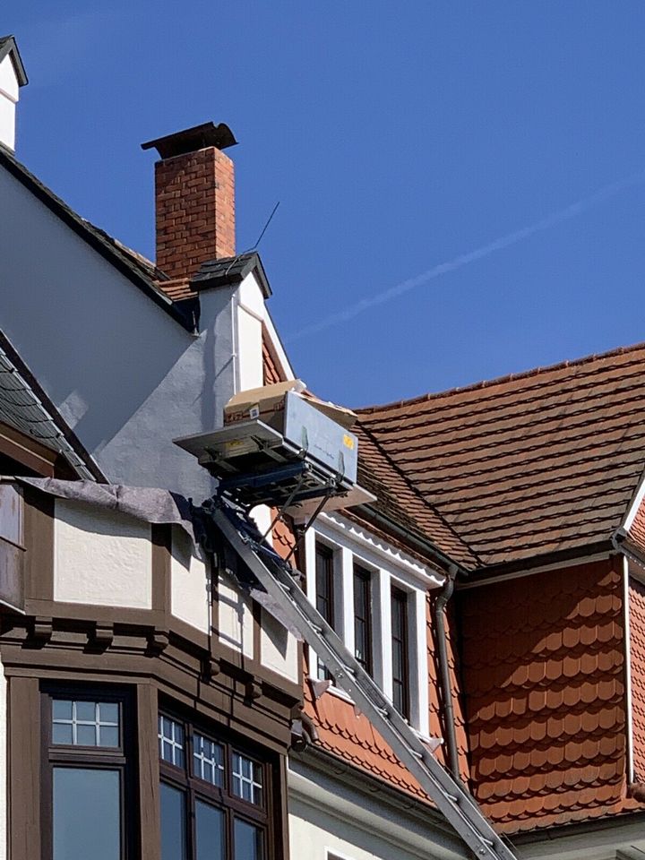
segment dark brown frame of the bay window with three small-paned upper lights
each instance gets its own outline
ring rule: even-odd
[[[165,702],[160,703],[159,716],[179,723],[184,729],[184,767],[176,767],[161,758],[159,753],[159,780],[170,787],[185,793],[185,835],[186,860],[194,860],[195,846],[195,804],[202,799],[206,804],[216,806],[225,814],[226,821],[226,860],[233,860],[233,828],[235,819],[247,821],[262,830],[263,860],[282,860],[280,851],[279,826],[276,815],[280,815],[280,799],[276,796],[280,789],[278,762],[273,761],[267,751],[248,741],[238,739],[222,727],[210,727],[201,719],[183,715]],[[197,733],[214,744],[224,747],[224,785],[214,786],[193,773],[193,735]],[[262,804],[253,804],[233,794],[233,753],[241,753],[262,769]]]

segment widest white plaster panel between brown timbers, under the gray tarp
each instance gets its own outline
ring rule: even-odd
[[[151,608],[148,523],[56,499],[54,546],[55,600]]]

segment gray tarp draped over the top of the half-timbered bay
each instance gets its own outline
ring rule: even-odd
[[[202,508],[193,508],[183,495],[150,486],[125,486],[123,484],[96,484],[94,481],[61,481],[56,477],[16,477],[22,484],[36,487],[43,493],[56,495],[72,502],[95,504],[108,511],[128,514],[136,520],[180,526],[193,541],[196,550],[202,550],[200,537],[209,521]],[[212,526],[214,528],[214,526]],[[299,632],[288,622],[275,601],[269,597],[258,581],[245,581],[230,572],[231,579],[239,589],[257,601],[276,621],[287,627],[298,640]]]

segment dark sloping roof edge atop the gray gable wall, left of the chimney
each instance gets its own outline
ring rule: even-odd
[[[150,278],[142,273],[141,264],[135,263],[133,258],[125,254],[111,239],[108,239],[107,234],[104,234],[102,230],[94,228],[89,221],[86,221],[74,212],[60,197],[57,197],[55,193],[50,191],[47,185],[43,185],[20,161],[15,159],[13,154],[1,143],[0,165],[7,168],[12,176],[18,179],[40,202],[47,206],[47,209],[52,211],[69,228],[72,228],[88,245],[101,254],[107,262],[110,262],[117,271],[120,271],[121,274],[131,280],[135,287],[141,289],[156,305],[159,305],[160,308],[166,311],[176,323],[179,323],[186,331],[193,331],[192,319],[186,316],[181,308],[176,307],[168,296],[156,287]]]

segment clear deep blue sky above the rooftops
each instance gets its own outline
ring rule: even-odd
[[[10,32],[19,158],[142,253],[139,144],[231,126],[238,247],[280,201],[271,311],[323,397],[645,340],[641,0],[5,0]]]

